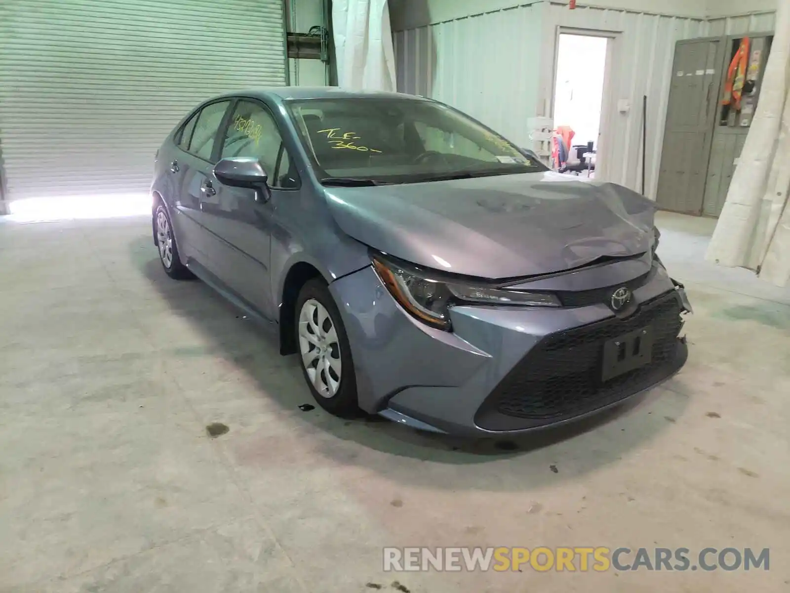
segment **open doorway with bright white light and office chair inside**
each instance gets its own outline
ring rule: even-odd
[[[600,166],[597,154],[611,41],[608,36],[559,34],[552,164],[560,172],[594,177]]]

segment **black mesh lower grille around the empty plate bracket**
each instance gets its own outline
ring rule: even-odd
[[[491,392],[478,412],[478,425],[486,424],[485,416],[490,412],[559,421],[649,387],[673,370],[682,326],[680,312],[681,304],[673,292],[641,304],[626,319],[607,319],[547,336]],[[647,326],[653,329],[649,364],[602,381],[604,343]]]

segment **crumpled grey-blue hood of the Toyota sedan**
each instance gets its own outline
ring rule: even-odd
[[[653,202],[553,172],[327,187],[340,229],[411,263],[479,278],[551,274],[653,243]]]

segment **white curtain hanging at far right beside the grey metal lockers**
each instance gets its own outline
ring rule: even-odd
[[[706,259],[790,280],[790,2],[777,2],[760,102]]]

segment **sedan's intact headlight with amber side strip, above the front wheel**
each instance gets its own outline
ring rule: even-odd
[[[374,256],[373,267],[401,307],[420,321],[442,330],[450,330],[453,304],[559,307],[559,300],[550,293],[528,293],[431,278],[427,270],[412,269],[379,256]]]

